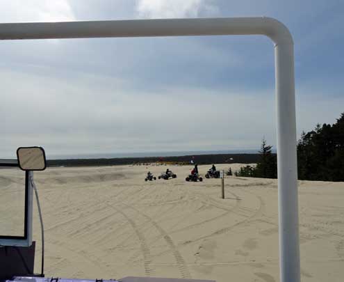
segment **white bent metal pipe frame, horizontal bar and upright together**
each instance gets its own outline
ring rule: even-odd
[[[293,38],[284,24],[270,17],[0,24],[0,40],[250,34],[275,42],[280,276],[299,282]]]

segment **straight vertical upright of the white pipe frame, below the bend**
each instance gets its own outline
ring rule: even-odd
[[[281,282],[300,281],[293,44],[275,46]]]

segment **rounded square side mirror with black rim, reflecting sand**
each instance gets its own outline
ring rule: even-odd
[[[44,171],[47,160],[42,147],[19,147],[17,149],[19,168],[23,171]]]

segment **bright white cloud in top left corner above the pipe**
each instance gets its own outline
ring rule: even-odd
[[[0,0],[1,22],[60,22],[74,20],[67,0]]]

